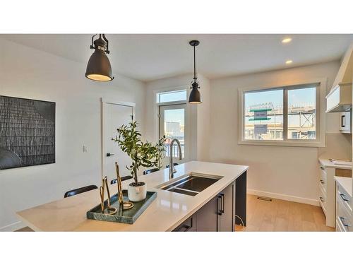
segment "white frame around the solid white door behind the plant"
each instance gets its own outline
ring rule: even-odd
[[[135,115],[136,115],[136,103],[134,102],[127,102],[127,101],[119,101],[119,100],[112,100],[112,98],[101,98],[101,113],[102,113],[102,119],[101,119],[101,178],[104,176],[104,154],[106,153],[106,148],[105,148],[105,143],[104,143],[104,134],[105,134],[105,129],[104,125],[106,124],[106,106],[107,104],[110,105],[120,105],[124,107],[132,107],[132,121],[135,121]]]

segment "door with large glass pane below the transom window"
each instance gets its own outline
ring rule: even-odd
[[[163,135],[167,138],[165,142],[166,157],[164,158],[163,165],[169,164],[169,143],[172,141],[172,139],[178,139],[180,141],[183,158],[182,160],[179,160],[179,150],[177,144],[174,143],[174,163],[185,163],[186,158],[189,157],[189,134],[186,124],[188,124],[186,122],[186,104],[160,105],[160,138]]]

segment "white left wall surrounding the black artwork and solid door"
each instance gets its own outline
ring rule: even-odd
[[[100,98],[136,102],[144,131],[144,83],[118,75],[97,83],[84,73],[84,64],[0,39],[0,95],[56,102],[56,163],[0,171],[0,230],[21,226],[16,211],[100,184]]]

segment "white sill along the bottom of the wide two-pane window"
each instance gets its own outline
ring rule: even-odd
[[[241,145],[250,146],[297,146],[297,147],[325,147],[325,143],[316,140],[298,141],[266,141],[266,140],[242,140],[238,141]]]

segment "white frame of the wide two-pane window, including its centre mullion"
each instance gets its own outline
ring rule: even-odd
[[[288,139],[288,90],[316,87],[316,139]],[[244,105],[245,93],[260,92],[261,90],[283,90],[283,140],[246,140],[244,139]],[[256,88],[240,88],[239,101],[239,134],[238,143],[241,145],[256,146],[302,146],[302,147],[325,147],[325,91],[326,78],[297,83],[274,84]]]

